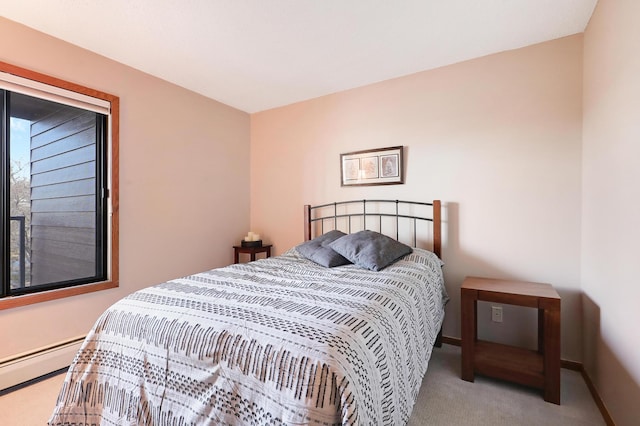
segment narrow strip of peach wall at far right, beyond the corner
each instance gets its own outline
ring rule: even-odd
[[[638,16],[600,0],[584,36],[584,364],[618,425],[640,419]]]

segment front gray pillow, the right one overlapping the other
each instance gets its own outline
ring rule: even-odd
[[[329,247],[352,263],[372,271],[380,271],[413,251],[406,244],[368,230],[338,238]]]

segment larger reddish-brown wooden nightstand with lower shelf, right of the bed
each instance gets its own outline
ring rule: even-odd
[[[549,284],[467,277],[460,288],[462,379],[475,373],[542,389],[560,404],[560,296]],[[538,309],[538,350],[478,340],[478,300]]]

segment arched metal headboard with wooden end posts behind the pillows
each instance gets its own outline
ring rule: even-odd
[[[389,208],[390,210],[385,210]],[[402,208],[401,206],[405,206]],[[414,208],[419,206],[432,207],[431,215],[413,214]],[[338,211],[339,208],[342,211]],[[405,210],[407,213],[405,213]],[[400,221],[407,220],[413,224],[412,245],[417,244],[417,223],[418,221],[426,221],[432,223],[432,239],[433,252],[441,257],[442,233],[441,233],[441,203],[440,200],[434,200],[430,203],[416,201],[400,201],[400,200],[352,200],[339,201],[335,203],[321,204],[317,206],[304,206],[304,239],[308,241],[312,238],[312,225],[316,224],[320,228],[318,234],[324,233],[326,222],[332,224],[331,229],[338,229],[338,220],[343,219],[347,222],[345,232],[351,232],[351,224],[354,218],[361,218],[362,229],[368,229],[367,223],[377,221],[378,229],[382,230],[382,218],[395,219],[395,238],[399,239]],[[368,219],[368,220],[367,220]],[[392,235],[390,235],[392,236]]]

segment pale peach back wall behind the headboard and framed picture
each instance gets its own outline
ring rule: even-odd
[[[580,361],[581,67],[577,35],[252,114],[251,226],[281,253],[304,204],[440,198],[445,335],[460,336],[464,276],[549,282],[563,358]],[[406,184],[340,186],[340,153],[394,145]],[[483,335],[535,345],[531,312],[492,324],[485,308]]]

